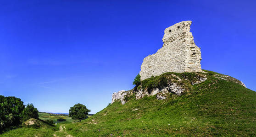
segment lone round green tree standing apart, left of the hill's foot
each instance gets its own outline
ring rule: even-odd
[[[90,112],[90,110],[88,110],[85,105],[78,103],[73,107],[70,107],[69,116],[71,116],[72,119],[78,119],[81,121],[87,118],[88,112]]]

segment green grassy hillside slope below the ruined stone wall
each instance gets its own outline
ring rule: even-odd
[[[136,100],[130,90],[124,105],[115,101],[94,116],[66,126],[67,132],[75,137],[256,136],[256,92],[232,77],[220,79],[224,75],[206,72],[206,81],[194,85],[182,82],[188,90],[180,96],[169,92],[165,100],[157,100],[156,95]],[[175,73],[149,81],[168,79],[171,74]],[[184,80],[195,73],[176,75]]]

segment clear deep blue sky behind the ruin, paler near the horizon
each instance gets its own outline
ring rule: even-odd
[[[92,2],[93,1],[93,2]],[[91,113],[130,90],[164,29],[191,20],[202,69],[256,91],[256,0],[2,0],[0,95]]]

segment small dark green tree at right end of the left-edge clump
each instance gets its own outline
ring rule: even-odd
[[[35,119],[39,118],[37,108],[35,108],[33,104],[29,104],[29,103],[28,105],[26,105],[22,114],[23,114],[23,119],[22,119],[23,121],[26,121],[30,118],[35,118]]]

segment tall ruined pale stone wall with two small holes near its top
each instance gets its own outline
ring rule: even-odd
[[[192,21],[182,21],[165,29],[163,47],[144,58],[141,80],[166,72],[202,72],[201,52],[190,31]]]

